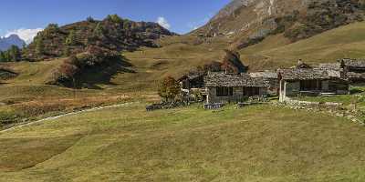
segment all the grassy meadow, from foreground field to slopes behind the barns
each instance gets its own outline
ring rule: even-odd
[[[365,23],[290,43],[283,35],[240,50],[251,71],[364,58]],[[146,112],[157,81],[220,61],[223,38],[166,37],[160,48],[123,53],[135,73],[94,89],[47,86],[62,58],[6,63],[0,128],[92,106],[137,102],[0,133],[0,181],[365,181],[365,128],[343,117],[270,105]],[[303,98],[350,104],[353,96]],[[361,105],[362,106],[362,105]]]

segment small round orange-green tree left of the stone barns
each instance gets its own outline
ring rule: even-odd
[[[159,84],[158,94],[165,101],[172,101],[179,93],[179,83],[172,76],[167,76],[162,79]]]

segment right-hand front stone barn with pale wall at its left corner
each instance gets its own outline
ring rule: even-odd
[[[349,83],[340,70],[324,68],[290,68],[277,71],[280,102],[290,96],[348,94]]]

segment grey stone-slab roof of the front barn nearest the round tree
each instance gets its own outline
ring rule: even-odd
[[[248,74],[225,74],[210,73],[204,76],[204,85],[206,87],[216,86],[268,86],[262,77],[252,77]]]

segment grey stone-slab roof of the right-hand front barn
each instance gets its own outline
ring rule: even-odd
[[[284,80],[312,80],[340,78],[339,70],[306,68],[306,69],[279,69],[278,74]]]

